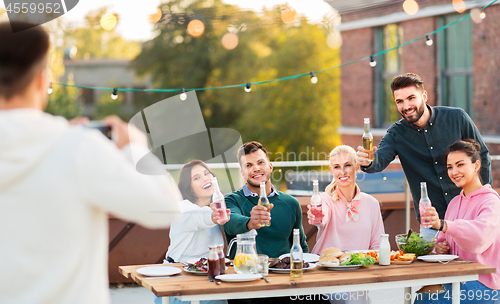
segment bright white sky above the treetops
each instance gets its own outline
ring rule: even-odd
[[[268,8],[287,3],[293,7],[298,14],[304,14],[315,22],[320,21],[325,13],[332,12],[333,8],[323,0],[223,0],[225,3],[238,5],[244,9],[260,11],[262,7]],[[154,13],[155,8],[164,1],[161,0],[79,0],[74,9],[61,18],[73,24],[82,24],[83,17],[90,10],[103,6],[110,8],[109,12],[116,12],[120,16],[116,30],[127,40],[148,40],[153,38],[153,26],[148,22],[149,14]],[[140,5],[138,5],[138,3]],[[4,8],[0,1],[0,8]]]

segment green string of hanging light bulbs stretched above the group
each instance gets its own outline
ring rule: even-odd
[[[488,6],[494,4],[497,1],[498,0],[493,0],[489,4],[483,6],[481,8],[481,11],[483,11],[485,8],[487,8]],[[230,88],[241,88],[241,87],[245,87],[248,90],[248,88],[250,88],[250,86],[267,84],[267,83],[278,82],[278,81],[285,81],[285,80],[300,78],[300,77],[304,77],[304,76],[311,76],[311,73],[313,73],[313,74],[323,73],[323,72],[327,72],[327,71],[330,71],[330,70],[333,70],[333,69],[338,69],[338,68],[341,68],[341,67],[344,67],[344,66],[347,66],[347,65],[350,65],[350,64],[354,64],[354,63],[357,63],[357,62],[365,61],[365,60],[370,60],[370,62],[373,65],[373,62],[375,62],[374,58],[377,57],[377,56],[383,55],[383,54],[388,53],[390,51],[397,50],[397,49],[399,49],[399,48],[401,48],[403,46],[412,44],[412,43],[414,43],[414,42],[416,42],[416,41],[418,41],[420,39],[426,39],[426,41],[428,41],[427,38],[430,37],[431,35],[434,35],[436,33],[444,31],[445,29],[449,28],[450,26],[453,26],[456,23],[462,22],[463,20],[465,20],[467,18],[470,18],[470,17],[471,17],[471,13],[469,13],[469,14],[463,16],[462,18],[460,18],[458,20],[455,20],[455,21],[453,21],[453,22],[451,22],[451,23],[449,23],[447,25],[444,25],[444,26],[442,26],[442,27],[440,27],[440,28],[438,28],[438,29],[430,32],[430,33],[424,34],[423,36],[417,37],[417,38],[415,38],[413,40],[407,41],[405,43],[402,43],[402,44],[397,45],[395,47],[392,47],[390,49],[383,50],[383,51],[380,51],[378,53],[375,53],[375,54],[372,54],[372,55],[360,58],[358,60],[346,62],[344,64],[336,65],[336,66],[333,66],[333,67],[330,67],[330,68],[326,68],[326,69],[323,69],[323,70],[319,70],[319,71],[312,71],[312,72],[307,72],[307,73],[303,73],[303,74],[298,74],[298,75],[293,75],[293,76],[288,76],[288,77],[283,77],[283,78],[276,78],[276,79],[264,80],[264,81],[259,81],[259,82],[248,82],[248,83],[243,83],[243,84],[234,84],[234,85],[226,85],[226,86],[210,87],[210,88],[193,88],[193,89],[184,89],[184,88],[183,89],[126,89],[126,88],[122,89],[122,88],[120,88],[119,90],[123,91],[123,92],[127,92],[128,91],[128,92],[181,92],[181,93],[184,93],[184,91],[185,92],[188,92],[188,91],[207,91],[207,90],[219,90],[219,89],[230,89]],[[376,62],[375,62],[375,64],[376,64]],[[75,87],[75,88],[84,88],[84,89],[93,89],[93,90],[108,90],[108,91],[113,91],[113,90],[116,89],[116,88],[92,87],[92,86],[74,85],[74,84],[56,83],[56,82],[54,82],[53,84],[61,85],[61,86],[65,86],[65,87]]]

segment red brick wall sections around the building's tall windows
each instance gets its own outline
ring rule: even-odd
[[[427,1],[420,7],[447,4],[450,1]],[[393,4],[387,14],[401,11],[400,4]],[[473,69],[474,69],[474,122],[484,135],[500,135],[500,5],[493,5],[485,10],[486,19],[473,26]],[[356,20],[366,12],[342,15],[342,21]],[[386,14],[386,13],[384,13]],[[380,11],[378,15],[384,15]],[[347,17],[347,18],[344,18]],[[351,19],[350,19],[351,18]],[[403,29],[403,41],[410,41],[425,33],[432,32],[437,26],[437,17],[427,17],[400,23]],[[432,37],[436,40],[436,37]],[[364,28],[342,32],[342,63],[351,62],[369,56],[374,52],[374,31]],[[414,42],[402,48],[402,72],[419,74],[425,82],[429,94],[429,104],[435,105],[437,99],[437,62],[436,43],[427,46],[424,40]],[[373,118],[373,79],[374,69],[368,60],[345,66],[341,70],[342,83],[342,126],[362,127],[364,117]],[[357,147],[361,144],[361,135],[343,135],[344,144]],[[380,137],[375,137],[375,145]],[[491,155],[500,155],[499,144],[488,144]],[[492,164],[493,187],[500,186],[500,161]]]

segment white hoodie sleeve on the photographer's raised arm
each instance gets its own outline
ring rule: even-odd
[[[147,228],[168,227],[180,217],[179,189],[158,159],[147,161],[163,175],[142,174],[127,159],[131,147],[120,151],[111,141],[89,132],[83,132],[79,142],[77,178],[89,204]]]

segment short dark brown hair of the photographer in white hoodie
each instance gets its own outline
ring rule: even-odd
[[[11,27],[31,28],[13,33]],[[0,41],[0,98],[9,100],[47,66],[50,38],[41,26],[12,21],[0,22]]]

